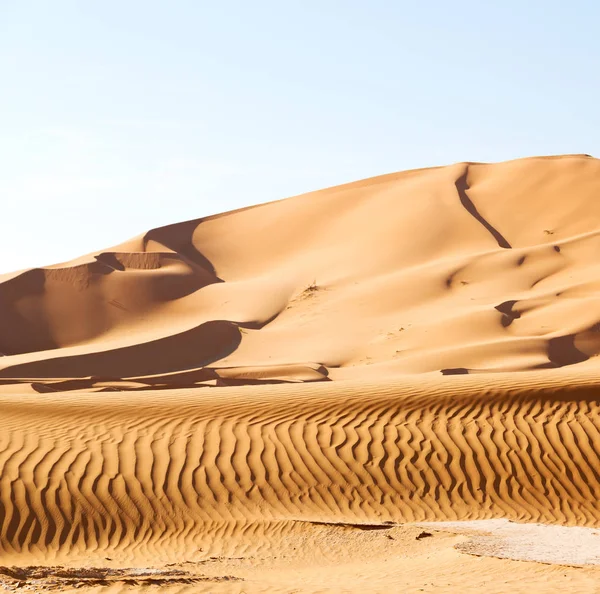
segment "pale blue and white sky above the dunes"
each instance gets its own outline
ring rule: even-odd
[[[600,157],[599,23],[597,0],[0,0],[0,273],[403,169]]]

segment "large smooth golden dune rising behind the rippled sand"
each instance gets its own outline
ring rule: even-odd
[[[600,161],[533,158],[155,229],[0,277],[0,380],[141,389],[584,363],[600,352],[598,195]]]

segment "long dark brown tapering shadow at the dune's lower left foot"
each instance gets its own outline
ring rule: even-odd
[[[216,320],[143,344],[13,365],[0,370],[0,377],[125,378],[183,371],[230,355],[240,342],[237,324]]]

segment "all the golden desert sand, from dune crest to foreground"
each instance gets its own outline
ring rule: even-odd
[[[0,276],[0,586],[600,591],[599,198],[460,163]]]

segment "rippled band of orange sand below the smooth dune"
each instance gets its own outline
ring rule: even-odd
[[[291,521],[597,525],[595,379],[554,374],[4,396],[3,559],[256,552]]]

